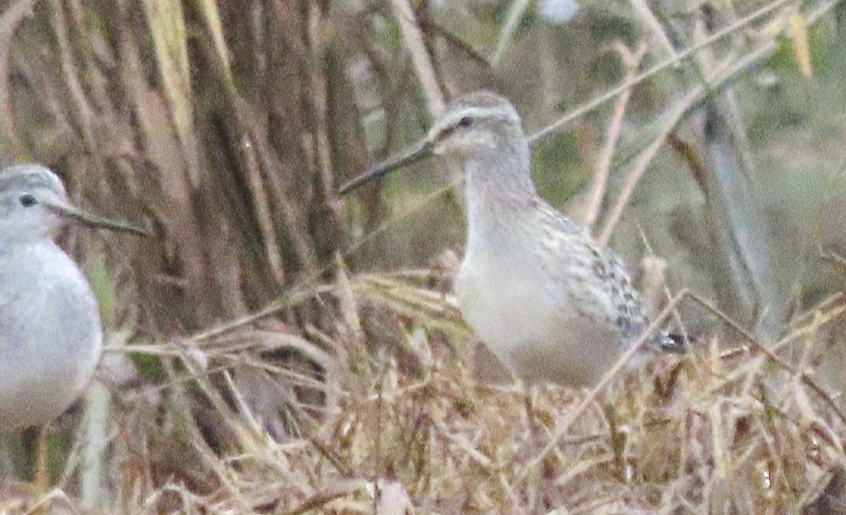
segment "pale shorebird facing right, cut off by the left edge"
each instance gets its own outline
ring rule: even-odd
[[[66,221],[150,235],[74,207],[46,167],[0,171],[0,430],[58,417],[100,361],[102,326],[91,286],[52,239]]]

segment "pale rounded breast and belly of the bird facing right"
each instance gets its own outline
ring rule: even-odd
[[[55,245],[0,255],[0,429],[43,424],[80,396],[102,353],[87,280]]]

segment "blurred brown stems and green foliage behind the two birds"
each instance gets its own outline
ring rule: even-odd
[[[267,393],[287,392],[281,371],[320,390],[327,362],[349,352],[332,347],[350,333],[343,299],[321,290],[344,266],[415,269],[445,249],[460,255],[460,173],[445,164],[349,198],[336,192],[424,134],[444,99],[477,89],[513,101],[527,134],[568,117],[534,142],[536,182],[552,205],[590,222],[633,271],[644,255],[662,256],[672,290],[690,288],[776,339],[796,312],[843,288],[844,76],[838,2],[0,7],[5,162],[44,163],[80,205],[148,220],[162,235],[63,234],[96,271],[106,325],[131,329],[140,346],[215,339],[231,353],[203,347],[198,361],[241,370],[249,391],[226,401],[270,411],[290,400]],[[696,334],[715,326],[701,314],[686,321]],[[843,345],[837,331],[831,341]],[[281,364],[276,375],[247,371],[267,371],[266,359]],[[140,358],[116,374],[137,389],[178,372]],[[210,436],[219,415],[199,404],[191,410],[206,437],[225,441]],[[161,412],[141,419],[167,425]],[[288,420],[277,419],[275,435],[291,433]]]

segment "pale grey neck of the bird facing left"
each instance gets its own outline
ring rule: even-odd
[[[467,246],[480,248],[508,238],[532,216],[537,192],[530,175],[528,145],[469,156],[466,174]]]

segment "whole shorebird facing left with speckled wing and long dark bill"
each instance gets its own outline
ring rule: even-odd
[[[341,193],[430,155],[466,174],[464,319],[524,381],[590,386],[648,326],[617,255],[538,196],[519,114],[486,91],[453,101],[419,144]],[[656,335],[648,348],[680,350]]]

